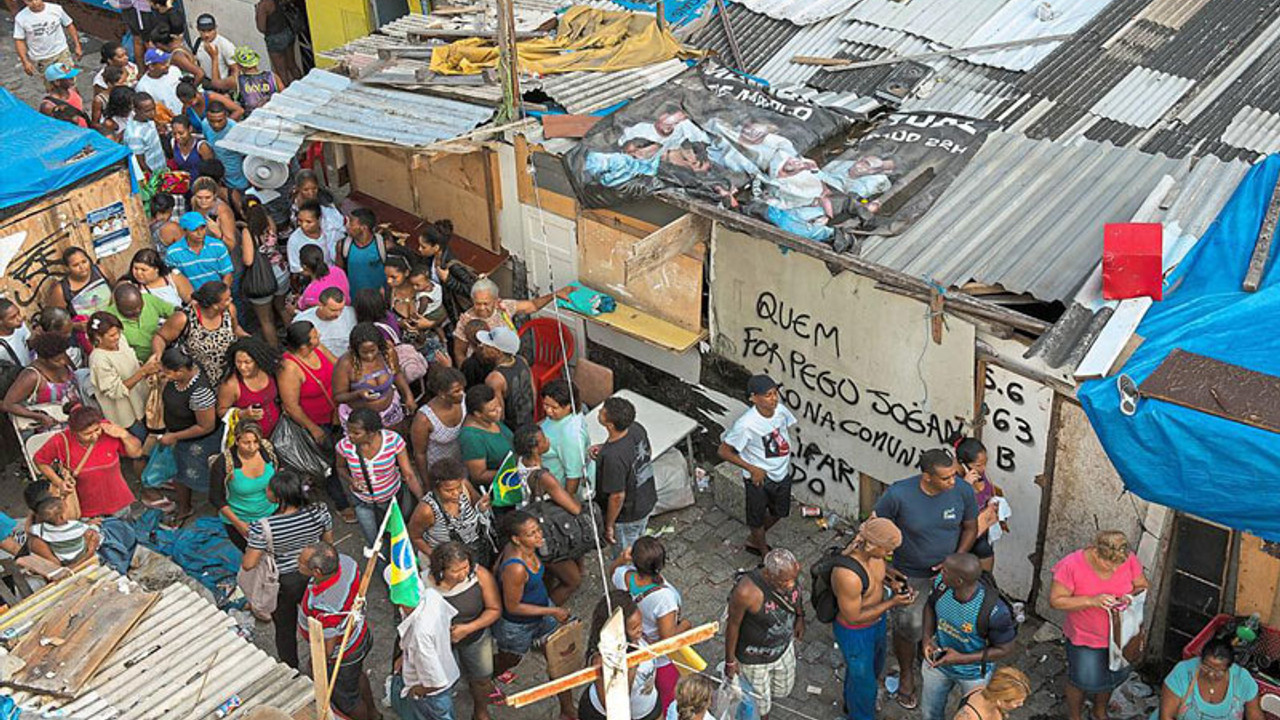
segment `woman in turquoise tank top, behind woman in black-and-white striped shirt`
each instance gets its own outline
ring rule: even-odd
[[[280,464],[262,425],[241,423],[234,434],[236,446],[223,450],[210,470],[209,502],[218,509],[232,544],[243,552],[250,524],[276,511],[266,488]]]

